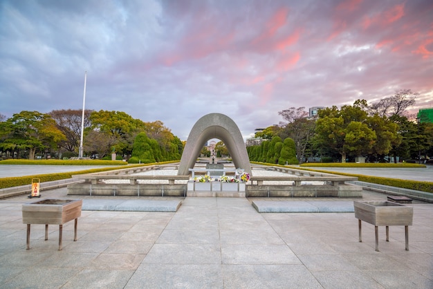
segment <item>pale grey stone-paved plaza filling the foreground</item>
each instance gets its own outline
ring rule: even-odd
[[[41,194],[71,198],[66,188]],[[364,200],[386,198],[363,192]],[[396,226],[389,242],[379,227],[376,252],[374,225],[363,223],[360,243],[353,212],[259,213],[252,202],[264,199],[169,198],[181,201],[177,212],[83,210],[77,241],[73,222],[64,225],[62,251],[57,225],[48,241],[45,226],[32,225],[26,250],[21,205],[30,200],[3,199],[0,288],[433,288],[433,204],[414,201],[409,251]]]

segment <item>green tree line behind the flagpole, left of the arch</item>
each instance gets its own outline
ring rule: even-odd
[[[0,114],[0,157],[71,158],[78,156],[82,110]],[[143,122],[120,111],[84,111],[84,156],[129,162],[179,160],[183,142],[159,120]]]

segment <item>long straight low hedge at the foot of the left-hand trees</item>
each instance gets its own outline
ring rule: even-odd
[[[0,165],[128,165],[122,160],[0,160]]]

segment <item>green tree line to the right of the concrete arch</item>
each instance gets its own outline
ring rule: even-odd
[[[427,160],[433,156],[433,124],[409,115],[418,93],[400,89],[392,96],[368,104],[356,100],[353,105],[320,109],[308,118],[304,107],[279,111],[285,122],[255,134],[264,141],[248,147],[250,160],[284,164],[279,156],[282,143],[290,138],[295,159],[346,162],[365,158],[368,162]],[[281,140],[284,140],[282,142]]]

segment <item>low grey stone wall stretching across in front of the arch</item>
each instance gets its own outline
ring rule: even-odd
[[[336,197],[360,198],[362,187],[345,182],[358,178],[333,174],[306,172],[299,169],[269,167],[284,170],[286,176],[252,176],[244,183],[194,183],[189,176],[85,174],[73,176],[83,183],[68,185],[68,195],[86,196],[246,196],[246,197]],[[129,180],[129,183],[107,183],[106,180]],[[155,183],[154,181],[160,181]],[[187,182],[187,183],[179,183]],[[287,184],[289,183],[289,184]],[[233,186],[234,187],[230,187]]]

